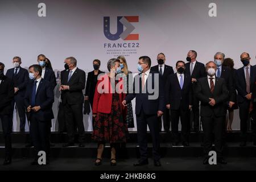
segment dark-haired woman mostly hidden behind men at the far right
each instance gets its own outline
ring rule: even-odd
[[[235,78],[236,77],[236,69],[234,69],[234,61],[231,58],[226,58],[224,59],[222,66],[225,67],[229,67],[232,70],[232,77]],[[234,92],[236,92],[236,90],[234,90]],[[237,96],[237,93],[236,93]],[[237,97],[236,97],[237,99]],[[235,101],[235,104],[232,107],[228,108],[229,114],[228,114],[228,118],[226,118],[226,130],[228,132],[232,131],[232,122],[233,122],[233,118],[234,118],[234,110],[238,109],[238,104],[237,104],[237,100]]]

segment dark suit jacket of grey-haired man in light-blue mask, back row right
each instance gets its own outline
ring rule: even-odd
[[[229,100],[228,101],[235,102],[236,101],[236,89],[235,89],[235,84],[233,81],[232,69],[222,66],[221,78],[225,79],[226,86],[229,91]]]

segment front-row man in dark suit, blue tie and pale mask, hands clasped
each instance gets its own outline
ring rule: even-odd
[[[38,165],[38,152],[46,152],[46,163],[49,163],[49,125],[51,125],[52,104],[54,102],[51,83],[42,78],[42,68],[37,65],[29,67],[30,81],[27,85],[24,103],[30,121],[30,132],[35,146],[36,157],[31,163]]]

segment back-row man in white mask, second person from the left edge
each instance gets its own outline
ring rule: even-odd
[[[27,69],[20,67],[20,64],[22,64],[20,57],[15,56],[13,58],[14,68],[8,69],[6,72],[6,76],[13,81],[15,92],[14,100],[11,103],[12,114],[10,117],[10,122],[13,123],[13,111],[14,105],[16,104],[16,109],[18,110],[20,120],[19,130],[20,132],[24,132],[26,125],[26,107],[23,100],[29,78]]]

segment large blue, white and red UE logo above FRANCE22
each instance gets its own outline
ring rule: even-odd
[[[139,16],[117,16],[117,32],[115,34],[110,33],[110,17],[104,16],[104,35],[109,40],[139,40],[139,34],[131,34],[135,27],[130,22],[139,22]],[[123,27],[126,30],[123,31]]]

